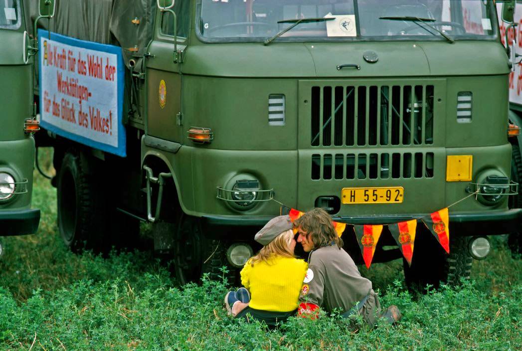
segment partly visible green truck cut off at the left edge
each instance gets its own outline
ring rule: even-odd
[[[40,222],[40,209],[31,208],[33,134],[39,126],[33,102],[30,27],[21,1],[0,2],[0,236],[34,233]]]

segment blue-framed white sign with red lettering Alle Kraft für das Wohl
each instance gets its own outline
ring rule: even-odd
[[[125,156],[121,48],[40,33],[42,126]]]

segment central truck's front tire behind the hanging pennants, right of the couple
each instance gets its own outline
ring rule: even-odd
[[[412,293],[425,293],[426,285],[457,286],[460,278],[469,278],[472,258],[467,237],[450,237],[447,254],[428,229],[419,228],[417,234],[411,267],[403,259],[406,285]]]

